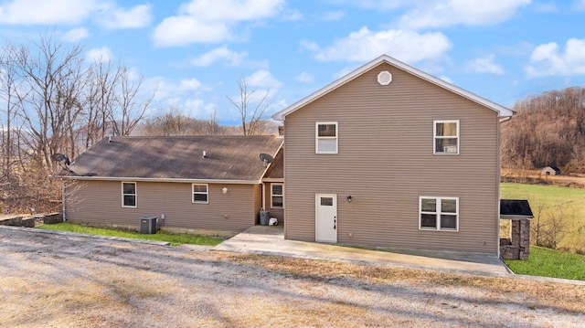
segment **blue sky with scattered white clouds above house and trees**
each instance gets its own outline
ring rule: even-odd
[[[271,113],[387,54],[490,101],[585,87],[585,0],[12,0],[0,37],[55,31],[110,58],[176,106],[237,124],[245,77]]]

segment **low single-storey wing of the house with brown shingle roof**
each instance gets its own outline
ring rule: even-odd
[[[135,228],[158,217],[169,230],[234,234],[254,226],[261,208],[282,218],[282,162],[259,158],[280,159],[281,148],[275,136],[106,138],[63,177],[66,219]]]

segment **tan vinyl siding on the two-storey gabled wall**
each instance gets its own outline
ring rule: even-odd
[[[460,154],[433,154],[434,120],[459,120]],[[337,154],[314,153],[315,122],[338,122]],[[287,115],[285,130],[285,238],[314,240],[314,195],[327,193],[338,243],[497,252],[495,111],[382,64]],[[459,231],[421,231],[419,196],[459,197]]]

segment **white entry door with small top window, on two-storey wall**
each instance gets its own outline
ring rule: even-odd
[[[337,195],[315,195],[315,237],[316,241],[337,242]]]

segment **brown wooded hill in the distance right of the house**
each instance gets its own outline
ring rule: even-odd
[[[518,101],[502,125],[502,165],[537,169],[558,166],[585,173],[585,88],[552,90]]]

